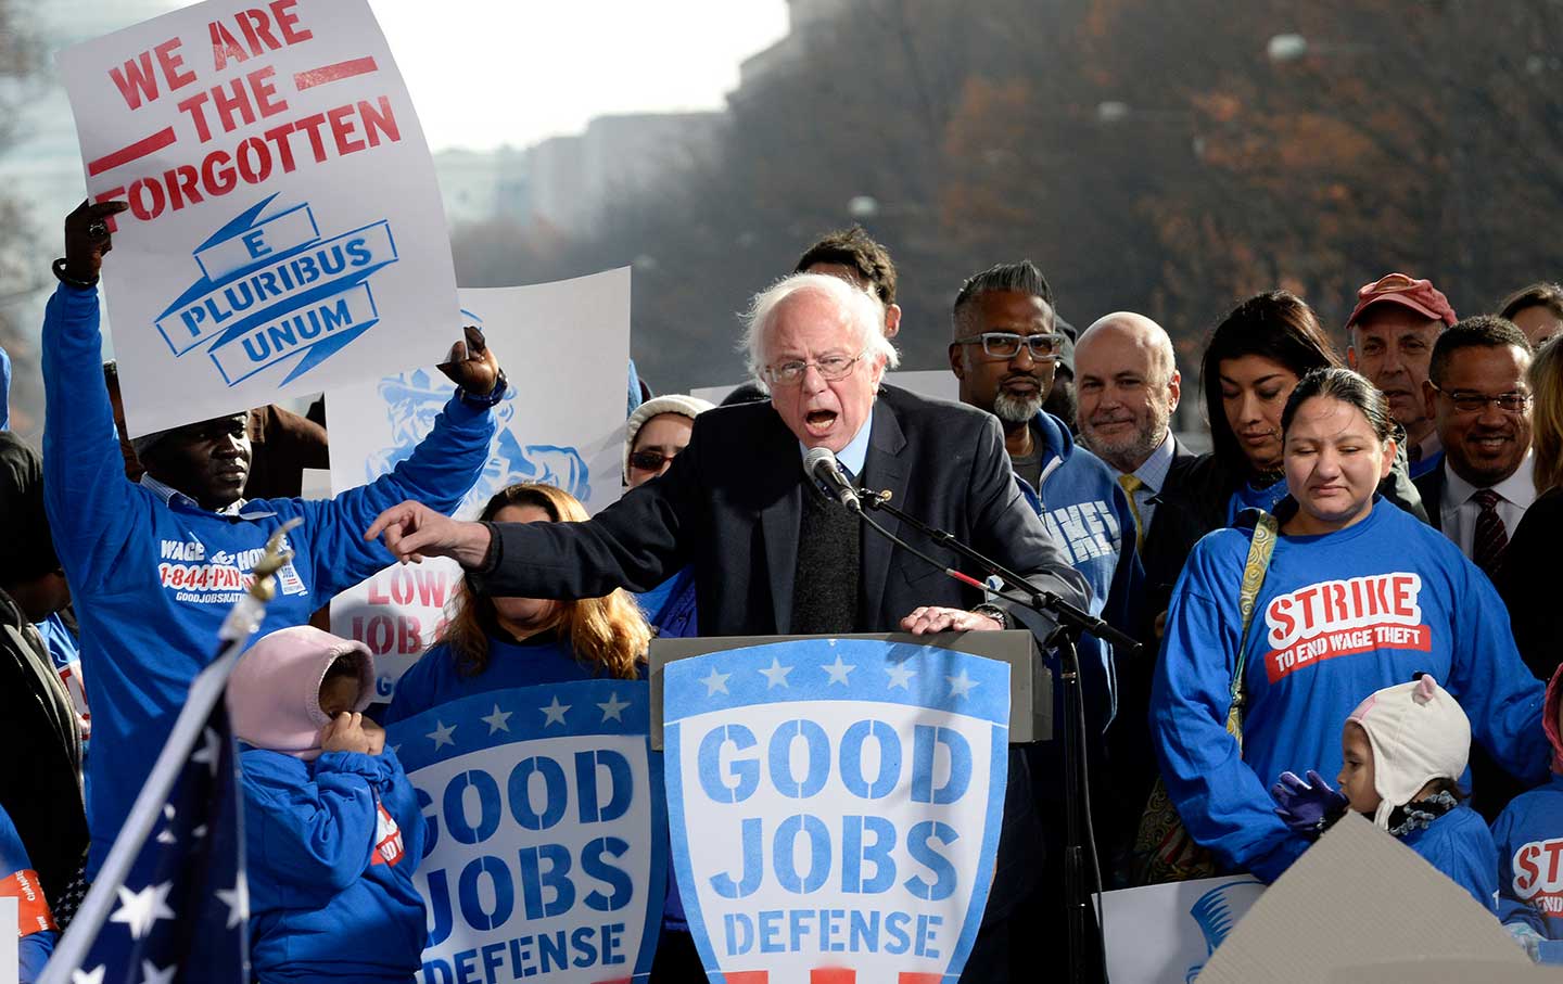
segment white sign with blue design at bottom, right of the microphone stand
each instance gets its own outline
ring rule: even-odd
[[[1102,893],[1113,984],[1186,984],[1264,893],[1252,875]]]

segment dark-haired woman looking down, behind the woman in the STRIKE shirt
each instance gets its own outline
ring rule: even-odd
[[[1157,504],[1157,534],[1144,545],[1147,617],[1166,611],[1199,537],[1230,526],[1243,509],[1272,512],[1286,497],[1280,415],[1297,381],[1341,358],[1300,297],[1286,291],[1243,301],[1210,336],[1200,364],[1213,450],[1175,462]],[[1425,520],[1404,453],[1379,487]]]

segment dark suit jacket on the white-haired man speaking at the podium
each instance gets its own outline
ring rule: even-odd
[[[860,480],[1038,587],[1085,603],[1085,581],[1021,497],[989,414],[882,387]],[[495,526],[499,559],[481,579],[495,595],[596,598],[647,590],[692,564],[703,636],[785,634],[805,494],[797,437],[769,403],[717,408],[696,419],[666,475],[591,522]],[[894,517],[875,519],[935,559],[980,573]],[[874,531],[861,537],[860,631],[894,631],[919,604],[982,601]],[[1041,625],[1030,612],[1014,617]]]

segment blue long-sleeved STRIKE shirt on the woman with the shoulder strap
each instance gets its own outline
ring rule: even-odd
[[[1280,536],[1246,640],[1238,589],[1254,536],[1205,536],[1168,612],[1150,692],[1150,734],[1168,795],[1218,859],[1266,881],[1307,848],[1275,815],[1280,773],[1341,767],[1341,725],[1374,690],[1429,672],[1508,772],[1540,781],[1541,681],[1515,650],[1491,581],[1449,537],[1374,498],[1366,519],[1322,536]],[[1247,648],[1243,748],[1227,734],[1238,647]]]

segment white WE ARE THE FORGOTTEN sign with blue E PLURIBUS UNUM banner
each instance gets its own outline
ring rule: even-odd
[[[208,0],[67,48],[131,436],[438,362],[424,131],[366,0]]]

